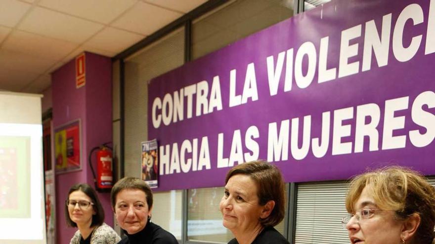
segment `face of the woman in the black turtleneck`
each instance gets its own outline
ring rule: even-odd
[[[116,195],[115,216],[118,224],[129,234],[145,228],[151,209],[146,203],[146,194],[139,189],[124,189]]]

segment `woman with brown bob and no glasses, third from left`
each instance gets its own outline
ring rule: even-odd
[[[288,244],[273,226],[284,218],[284,182],[279,169],[265,161],[232,168],[220,201],[223,226],[235,236],[228,244]]]

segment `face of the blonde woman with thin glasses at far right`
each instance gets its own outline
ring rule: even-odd
[[[366,186],[356,201],[354,209],[379,209]],[[370,211],[368,218],[353,216],[346,228],[351,244],[400,244],[402,221],[394,218],[394,211]]]

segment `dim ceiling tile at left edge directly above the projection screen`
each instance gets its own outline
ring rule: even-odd
[[[0,65],[0,90],[19,92],[31,80],[38,77],[38,73],[22,70],[14,72]]]

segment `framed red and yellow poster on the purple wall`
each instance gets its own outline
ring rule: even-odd
[[[82,169],[80,120],[54,129],[54,157],[56,174]]]

